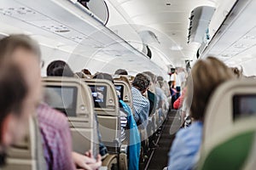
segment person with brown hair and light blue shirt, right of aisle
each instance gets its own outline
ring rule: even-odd
[[[189,77],[187,92],[187,104],[192,101],[190,112],[193,123],[189,128],[177,132],[169,152],[168,169],[185,170],[194,167],[195,156],[201,146],[203,120],[208,100],[221,83],[233,77],[230,69],[216,58],[208,57],[196,62]]]

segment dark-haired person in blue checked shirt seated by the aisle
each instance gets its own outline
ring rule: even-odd
[[[132,102],[134,107],[134,119],[137,125],[147,127],[148,124],[148,114],[150,104],[147,98],[143,96],[148,90],[150,84],[150,77],[143,73],[137,74],[132,82],[131,94]]]

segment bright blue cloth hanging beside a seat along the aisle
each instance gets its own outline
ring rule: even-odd
[[[130,131],[130,144],[128,146],[129,153],[129,170],[138,170],[139,169],[139,160],[140,160],[140,150],[141,150],[141,138],[140,133],[137,129],[137,124],[134,120],[134,117],[131,112],[131,108],[125,104],[123,100],[119,100],[120,104],[123,105],[124,110],[127,115],[127,124]]]

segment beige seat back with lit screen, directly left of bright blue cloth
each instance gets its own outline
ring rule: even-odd
[[[102,142],[110,152],[117,153],[121,144],[119,99],[112,82],[102,79],[84,79],[95,102]]]

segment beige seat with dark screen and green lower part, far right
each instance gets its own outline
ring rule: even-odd
[[[254,80],[232,80],[215,90],[207,105],[199,169],[254,169],[255,102]]]

